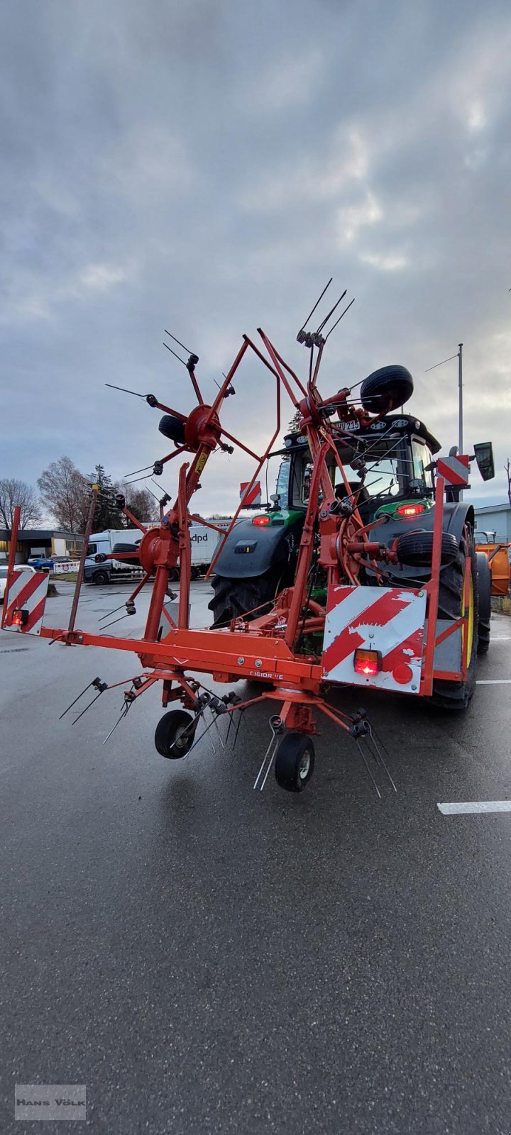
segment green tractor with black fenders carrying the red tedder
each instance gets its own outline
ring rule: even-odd
[[[379,539],[388,547],[395,546],[399,540],[401,549],[399,564],[378,565],[384,566],[386,585],[420,587],[432,575],[434,459],[441,444],[421,421],[403,413],[387,414],[368,427],[359,421],[344,423],[343,429],[353,437],[352,446],[345,439],[338,446],[349,487],[334,455],[327,457],[340,508],[343,507],[342,502],[349,501],[353,494],[363,524],[384,516],[383,527],[378,530]],[[240,520],[234,526],[215,565],[215,594],[209,604],[213,627],[228,627],[237,619],[250,621],[259,617],[271,608],[283,588],[293,585],[312,468],[307,437],[299,434],[288,434],[284,438],[284,448],[270,454],[266,485],[276,482],[276,491],[265,511],[258,511],[252,518]],[[487,479],[491,472],[481,465],[479,468]],[[464,708],[468,705],[475,688],[476,654],[486,653],[489,645],[488,561],[484,554],[476,554],[474,508],[459,496],[459,490],[447,488],[438,627],[460,617],[466,557],[470,555],[474,579],[472,647],[464,682],[435,681],[434,700],[446,708]],[[362,586],[377,582],[369,565],[363,569],[359,582]],[[321,605],[327,599],[326,572],[319,563],[319,536],[316,536],[309,572],[308,599]],[[295,649],[319,657],[322,636],[303,636]],[[449,672],[450,664],[443,661],[439,669]]]

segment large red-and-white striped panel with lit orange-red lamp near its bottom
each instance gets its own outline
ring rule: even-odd
[[[418,693],[426,592],[397,587],[329,587],[322,678],[330,682]],[[379,670],[354,669],[355,650],[377,650]]]

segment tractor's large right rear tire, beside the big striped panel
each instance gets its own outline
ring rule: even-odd
[[[470,555],[471,578],[474,586],[474,636],[472,648],[464,682],[450,682],[436,679],[433,683],[433,705],[441,709],[467,709],[476,689],[477,671],[477,632],[478,632],[478,587],[477,558],[474,547],[474,536],[460,546],[455,560],[441,572],[438,590],[438,619],[459,619],[463,603],[464,558]]]

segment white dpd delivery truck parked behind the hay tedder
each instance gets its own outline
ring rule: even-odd
[[[228,519],[215,521],[218,527],[228,527]],[[151,526],[148,524],[148,528]],[[84,580],[86,583],[115,583],[116,581],[142,578],[140,564],[129,563],[126,560],[103,560],[102,556],[114,555],[116,552],[127,553],[133,548],[136,557],[142,532],[137,528],[107,529],[104,532],[93,532],[89,541],[87,557],[85,560]],[[190,543],[192,546],[192,579],[199,579],[209,568],[215,555],[219,535],[206,524],[192,523],[190,526]],[[97,558],[97,557],[100,558]],[[178,571],[174,573],[174,580],[178,579]]]

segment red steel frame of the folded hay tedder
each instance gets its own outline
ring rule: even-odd
[[[354,409],[347,403],[347,390],[338,392],[333,398],[327,400],[327,402],[321,401],[317,392],[317,377],[322,347],[318,351],[315,372],[305,388],[261,329],[259,329],[259,335],[268,352],[270,362],[268,362],[262,352],[248,336],[243,336],[242,346],[212,405],[202,403],[198,384],[194,380],[194,367],[190,363],[189,371],[199,405],[192,411],[189,418],[157,402],[153,395],[148,396],[148,401],[152,400],[150,402],[151,405],[165,410],[185,423],[185,444],[178,445],[173,453],[164,457],[161,464],[171,461],[175,456],[184,452],[191,453],[192,457],[190,462],[185,462],[179,469],[176,499],[170,510],[161,516],[160,526],[149,531],[145,531],[142,526],[137,526],[144,531],[140,546],[140,560],[145,574],[144,579],[135,588],[131,599],[139,594],[150,575],[154,575],[143,638],[136,641],[115,636],[93,634],[82,630],[62,631],[44,627],[41,634],[43,638],[51,640],[59,639],[68,645],[101,646],[107,649],[136,654],[144,670],[151,670],[151,674],[143,675],[145,681],[136,696],[143,692],[148,683],[152,684],[154,681],[161,680],[164,681],[164,705],[168,700],[176,698],[182,699],[185,705],[190,704],[193,692],[193,680],[187,680],[186,674],[189,672],[211,674],[217,682],[233,682],[243,678],[256,678],[263,679],[265,681],[269,680],[273,683],[273,689],[265,691],[249,703],[244,703],[244,705],[249,705],[261,698],[278,699],[284,704],[280,717],[285,724],[302,729],[305,732],[313,732],[315,726],[311,711],[316,706],[337,721],[344,729],[347,729],[349,725],[346,722],[349,718],[340,711],[337,712],[332,706],[327,706],[321,697],[325,683],[321,681],[320,661],[316,656],[308,657],[303,654],[296,654],[294,645],[300,623],[300,633],[317,632],[325,624],[326,611],[317,603],[309,603],[309,613],[307,617],[302,617],[313,550],[315,522],[318,513],[321,548],[320,562],[327,570],[328,585],[347,581],[355,586],[362,564],[361,556],[369,558],[371,570],[376,577],[379,574],[377,561],[396,562],[394,549],[388,549],[377,540],[368,539],[368,536],[374,529],[377,529],[380,521],[376,520],[370,524],[363,526],[357,510],[358,498],[353,502],[354,510],[349,518],[333,515],[329,512],[329,507],[335,503],[335,495],[326,466],[327,453],[334,454],[344,482],[346,486],[349,485],[337,451],[337,444],[340,440],[342,442],[340,431],[342,432],[343,422],[357,420],[363,424],[369,424],[377,421],[383,414],[371,415],[361,409]],[[276,428],[262,455],[254,453],[244,443],[223,429],[218,418],[232,379],[249,348],[253,351],[276,379]],[[284,387],[291,401],[301,413],[300,429],[302,432],[307,432],[313,462],[309,504],[300,541],[294,585],[277,596],[275,606],[269,614],[260,615],[251,622],[246,622],[243,619],[235,620],[226,629],[192,630],[189,627],[191,575],[190,522],[192,519],[200,520],[200,518],[195,513],[190,512],[191,497],[199,486],[200,477],[211,453],[217,447],[228,448],[221,442],[223,436],[227,437],[234,445],[238,446],[257,462],[256,472],[246,489],[246,493],[250,491],[280,430],[280,386]],[[329,417],[332,415],[325,417],[320,413],[324,406],[332,406],[333,404],[336,406],[338,417],[335,429],[329,421]],[[320,493],[322,496],[319,506]],[[449,678],[450,680],[462,681],[467,673],[468,588],[470,587],[469,558],[467,558],[468,571],[466,572],[464,585],[464,609],[460,613],[460,619],[454,621],[449,630],[444,631],[439,637],[436,636],[444,511],[443,499],[444,480],[438,477],[435,496],[432,579],[424,585],[424,590],[427,592],[427,608],[422,656],[424,666],[419,690],[419,693],[422,696],[429,696],[433,692],[433,681],[435,678]],[[228,529],[223,532],[224,539],[219,543],[208,575],[215,570],[221,547],[232,531],[242,507],[243,501],[240,503]],[[127,508],[124,508],[124,511],[127,515],[131,515]],[[216,528],[213,524],[209,524],[209,527]],[[168,632],[161,638],[161,641],[158,641],[169,572],[178,561],[181,565],[181,588],[177,627],[173,624],[173,621],[167,615],[169,622]],[[453,633],[460,627],[464,629],[463,659],[460,673],[447,674],[435,671],[435,647],[447,634]],[[189,684],[190,681],[192,686]],[[176,683],[174,690],[171,690],[170,683]]]

